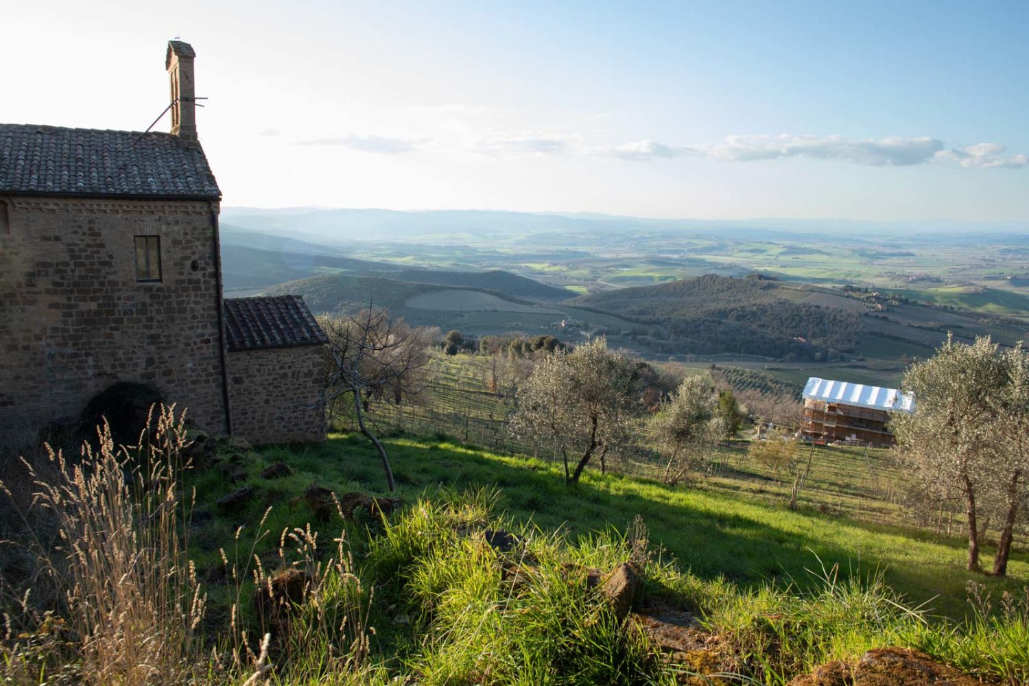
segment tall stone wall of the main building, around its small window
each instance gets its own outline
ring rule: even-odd
[[[225,431],[212,205],[0,201],[0,432],[76,417],[116,381]],[[161,237],[159,282],[136,281],[139,234]]]

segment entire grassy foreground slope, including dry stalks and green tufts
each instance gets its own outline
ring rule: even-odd
[[[1021,549],[991,579],[957,540],[439,436],[386,439],[389,494],[353,435],[198,442],[183,473],[168,419],[153,469],[102,447],[35,477],[61,572],[5,579],[4,683],[782,686],[884,646],[1029,679]],[[42,580],[65,603],[20,607]]]

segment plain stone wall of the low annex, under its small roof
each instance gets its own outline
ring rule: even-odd
[[[322,346],[230,352],[233,432],[257,444],[325,438],[325,414],[312,408],[324,384],[324,355]]]

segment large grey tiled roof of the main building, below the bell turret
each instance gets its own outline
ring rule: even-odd
[[[219,198],[204,150],[171,134],[0,123],[0,192]]]

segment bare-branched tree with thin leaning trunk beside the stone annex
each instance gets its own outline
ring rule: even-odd
[[[329,339],[330,361],[322,399],[325,417],[332,425],[353,412],[358,431],[382,458],[386,482],[393,491],[389,455],[369,428],[366,412],[371,400],[386,399],[399,404],[425,388],[423,369],[429,361],[429,334],[407,326],[402,319],[391,320],[381,309],[347,317],[322,317],[319,324]],[[343,402],[348,395],[349,406]]]

